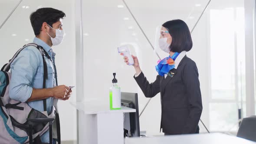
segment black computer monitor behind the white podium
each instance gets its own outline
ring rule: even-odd
[[[136,109],[136,112],[125,113],[124,137],[140,137],[138,94],[121,92],[121,105]]]

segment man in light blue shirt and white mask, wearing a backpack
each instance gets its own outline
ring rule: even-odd
[[[36,47],[28,46],[23,49],[11,64],[10,98],[27,101],[28,105],[38,111],[44,111],[43,99],[46,99],[48,115],[52,112],[56,100],[68,100],[72,93],[66,85],[57,86],[55,53],[51,48],[62,42],[62,19],[65,16],[65,13],[53,8],[41,8],[30,15],[36,36],[33,43],[42,46],[50,56],[50,59],[45,57],[48,73],[46,88],[43,88],[43,58]],[[40,139],[43,143],[49,143],[49,131]],[[53,143],[55,144],[56,140],[53,140]]]

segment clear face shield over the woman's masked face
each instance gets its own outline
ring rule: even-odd
[[[170,52],[171,35],[169,30],[163,26],[158,26],[155,35],[155,51],[158,52],[160,49],[164,52]]]

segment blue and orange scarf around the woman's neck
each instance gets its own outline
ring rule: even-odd
[[[155,66],[158,74],[164,76],[164,74],[168,74],[171,69],[174,69],[174,61],[179,54],[180,53],[175,52],[173,56],[168,56],[162,60],[158,60],[158,65]]]

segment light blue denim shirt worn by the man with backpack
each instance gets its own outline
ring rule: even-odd
[[[48,79],[46,79],[46,88],[56,86],[55,80],[55,53],[41,39],[35,38],[33,43],[42,46],[49,54],[53,62],[46,58]],[[43,58],[39,50],[34,46],[28,46],[23,49],[11,64],[11,82],[10,82],[10,98],[18,101],[27,101],[33,91],[33,88],[43,88]],[[28,102],[30,107],[43,111],[43,100]],[[53,98],[46,99],[46,109],[50,113],[53,107]],[[42,142],[49,143],[49,131],[41,136]]]

